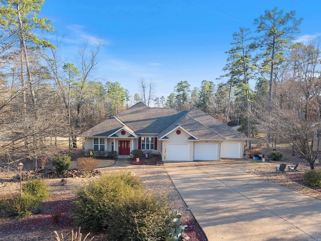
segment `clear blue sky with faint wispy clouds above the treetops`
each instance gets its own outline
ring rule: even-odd
[[[239,27],[254,32],[254,19],[275,7],[303,18],[298,39],[321,36],[319,0],[46,0],[41,17],[64,36],[60,54],[66,62],[77,65],[86,40],[89,48],[104,41],[92,79],[117,81],[133,96],[144,78],[154,82],[155,96],[167,97],[180,81],[189,81],[191,89],[205,79],[224,82],[217,78],[232,34]]]

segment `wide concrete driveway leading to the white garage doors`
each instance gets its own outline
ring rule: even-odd
[[[252,165],[224,160],[165,168],[209,241],[321,240],[321,201],[245,173]]]

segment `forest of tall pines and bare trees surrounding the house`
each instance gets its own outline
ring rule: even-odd
[[[142,101],[179,111],[197,107],[229,126],[241,125],[249,148],[260,125],[267,148],[287,143],[313,168],[319,152],[321,58],[318,42],[294,42],[303,21],[295,11],[266,10],[252,29],[240,27],[226,51],[225,74],[217,76],[221,83],[200,80],[191,89],[188,81],[178,80],[169,96],[157,96],[157,86],[143,76],[133,80],[139,93],[94,79],[102,42],[95,48],[80,43],[78,63],[64,62],[58,54],[63,38],[51,43],[41,37],[54,32],[54,24],[39,17],[43,4],[1,1],[0,160],[51,158],[66,145],[81,148],[79,134]]]

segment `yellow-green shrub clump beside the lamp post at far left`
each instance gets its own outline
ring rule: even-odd
[[[14,197],[10,207],[11,211],[19,216],[31,215],[32,208],[48,198],[47,186],[44,181],[39,179],[23,183],[22,192],[22,199],[20,195]]]

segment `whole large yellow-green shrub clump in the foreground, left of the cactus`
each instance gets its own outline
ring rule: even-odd
[[[105,230],[110,240],[163,240],[167,201],[144,190],[130,173],[109,173],[81,187],[74,202],[75,224]]]

